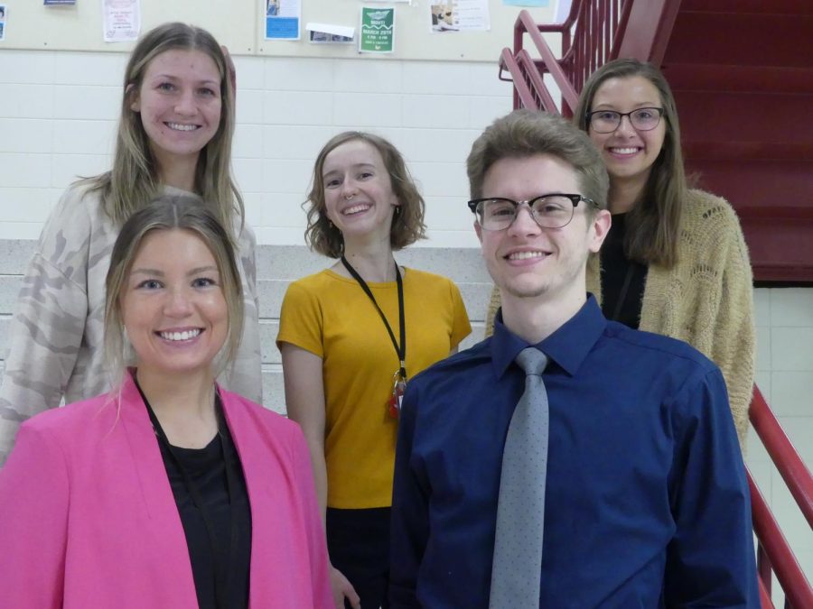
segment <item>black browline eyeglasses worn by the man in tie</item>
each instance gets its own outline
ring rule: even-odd
[[[528,211],[537,225],[543,228],[561,228],[573,219],[579,201],[598,208],[593,199],[582,195],[565,195],[552,193],[529,198],[527,201],[515,201],[512,198],[491,197],[475,198],[469,201],[469,209],[477,215],[477,221],[483,230],[505,230],[514,223],[519,214],[519,206],[527,205]]]

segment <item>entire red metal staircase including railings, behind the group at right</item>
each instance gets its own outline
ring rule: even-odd
[[[560,52],[543,33],[558,34]],[[813,0],[573,0],[564,23],[522,11],[500,78],[514,83],[514,107],[569,116],[586,78],[619,57],[663,70],[687,171],[736,208],[754,278],[813,282]],[[749,413],[813,528],[813,476],[756,387]],[[748,479],[762,607],[774,606],[775,574],[786,608],[813,609],[813,587]]]

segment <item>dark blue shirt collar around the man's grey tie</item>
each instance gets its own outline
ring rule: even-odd
[[[505,327],[500,309],[494,319],[494,337],[491,339],[494,372],[498,377],[502,376],[522,349],[536,346],[561,366],[565,373],[573,376],[602,336],[606,326],[607,320],[603,316],[602,309],[599,308],[593,294],[588,294],[582,308],[556,332],[537,345],[529,345]]]

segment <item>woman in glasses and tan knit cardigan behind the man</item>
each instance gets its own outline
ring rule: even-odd
[[[734,210],[687,187],[675,99],[658,69],[614,60],[584,85],[575,121],[610,174],[612,229],[587,289],[604,315],[685,340],[723,371],[744,447],[754,367],[752,272]],[[486,332],[500,306],[491,294]]]

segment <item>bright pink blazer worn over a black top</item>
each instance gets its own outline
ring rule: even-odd
[[[249,606],[332,608],[302,431],[220,390],[251,503]],[[195,609],[181,519],[144,402],[116,395],[28,420],[0,470],[0,605]]]

